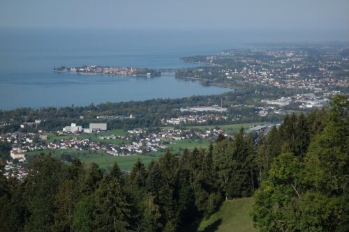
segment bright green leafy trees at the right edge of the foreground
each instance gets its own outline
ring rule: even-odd
[[[304,123],[306,139],[288,137],[255,192],[251,215],[260,231],[349,230],[348,108],[338,96],[328,111],[308,117],[315,121]]]

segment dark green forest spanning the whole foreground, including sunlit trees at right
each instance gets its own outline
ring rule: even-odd
[[[0,231],[183,231],[250,196],[260,231],[349,231],[348,109],[337,95],[258,139],[242,128],[130,173],[39,155],[26,180],[0,175]]]

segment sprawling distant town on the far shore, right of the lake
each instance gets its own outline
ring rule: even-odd
[[[281,44],[269,49],[228,49],[220,55],[184,57],[183,61],[209,66],[180,70],[176,77],[232,88],[246,82],[315,92],[348,88],[348,45],[301,46]]]

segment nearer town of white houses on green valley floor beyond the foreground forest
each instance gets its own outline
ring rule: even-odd
[[[191,118],[191,117],[188,117]],[[184,118],[178,119],[187,120]],[[37,122],[36,124],[39,124]],[[168,123],[176,125],[176,119],[172,118],[171,121],[164,121],[164,124]],[[22,125],[27,127],[29,125]],[[272,127],[272,124],[258,125],[257,127],[251,127],[249,131],[263,132]],[[101,132],[104,132],[102,135]],[[13,177],[17,179],[26,178],[28,176],[27,170],[27,153],[33,151],[45,151],[45,150],[75,150],[75,151],[89,151],[97,152],[101,151],[112,156],[131,156],[141,155],[149,152],[164,151],[168,148],[167,144],[176,143],[176,141],[188,140],[188,139],[208,139],[209,141],[215,141],[219,134],[224,137],[233,137],[224,131],[223,128],[211,129],[211,130],[195,130],[195,129],[174,129],[173,127],[168,129],[158,130],[128,130],[123,135],[115,135],[112,132],[107,132],[107,123],[90,123],[89,128],[82,128],[76,123],[64,127],[61,131],[57,131],[59,137],[63,139],[50,140],[47,135],[50,133],[38,131],[27,133],[6,133],[0,135],[0,142],[7,142],[12,144],[10,150],[11,160],[7,160],[5,163],[5,172],[3,173],[7,178]],[[76,137],[70,137],[75,134]],[[95,137],[87,137],[88,134],[96,134]],[[68,138],[69,137],[69,138]],[[121,144],[115,143],[115,139],[124,141]],[[70,155],[66,155],[69,158],[66,161],[71,160]]]

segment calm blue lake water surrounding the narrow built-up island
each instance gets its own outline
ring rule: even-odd
[[[73,75],[52,70],[61,65],[187,68],[195,64],[183,63],[180,57],[218,54],[223,49],[246,47],[248,42],[324,40],[324,32],[320,33],[0,29],[0,109],[84,106],[223,93],[230,90],[177,80],[173,72],[145,78]]]

